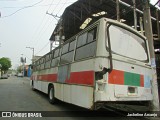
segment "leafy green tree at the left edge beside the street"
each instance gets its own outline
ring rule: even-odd
[[[12,66],[11,60],[6,57],[0,58],[0,64],[1,64],[1,71],[3,71],[4,73],[6,73],[7,70]]]

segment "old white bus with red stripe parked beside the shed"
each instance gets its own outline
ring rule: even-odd
[[[149,102],[151,60],[147,39],[130,26],[101,18],[34,62],[30,85],[87,109],[112,102]]]

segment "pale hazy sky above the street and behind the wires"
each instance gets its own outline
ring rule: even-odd
[[[46,14],[61,16],[64,9],[77,0],[0,0],[0,58],[11,59],[16,69],[20,57],[31,64],[32,47],[35,55],[50,51],[49,38],[57,20]],[[157,0],[150,0],[155,4]]]

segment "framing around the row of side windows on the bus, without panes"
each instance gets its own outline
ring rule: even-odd
[[[51,56],[50,56],[50,60],[51,60],[50,68],[54,68],[54,67],[61,66],[61,65],[65,65],[65,64],[71,64],[71,63],[74,63],[74,62],[77,62],[77,61],[83,61],[83,60],[86,60],[86,59],[91,59],[91,58],[93,58],[93,57],[96,57],[97,44],[96,44],[96,47],[95,47],[95,54],[94,54],[94,56],[75,60],[77,48],[86,46],[86,45],[91,44],[91,43],[93,43],[93,42],[97,42],[97,40],[98,40],[98,32],[99,32],[99,29],[98,29],[98,28],[99,28],[99,22],[97,22],[96,24],[92,25],[92,26],[89,27],[89,28],[84,29],[81,33],[79,33],[79,34],[71,37],[71,39],[67,40],[67,41],[65,42],[65,44],[69,43],[69,47],[68,47],[68,52],[66,52],[66,53],[63,53],[63,54],[62,54],[62,48],[63,48],[63,46],[61,46],[61,47],[58,46],[56,49],[54,49],[54,50],[52,50],[51,52],[47,53],[46,55],[51,54]],[[94,29],[96,29],[96,30],[94,30]],[[88,42],[88,32],[90,32],[90,31],[92,31],[92,30],[94,30],[94,31],[96,32],[96,33],[94,33],[94,34],[96,35],[96,38],[93,39],[93,41]],[[85,32],[87,32],[86,44],[84,44],[84,45],[82,45],[82,46],[80,46],[80,47],[77,47],[78,37],[79,37],[80,35],[84,34]],[[94,38],[94,37],[93,37],[93,38]],[[73,42],[73,41],[75,41],[74,49],[73,49],[73,50],[70,50],[70,43]],[[56,51],[57,49],[59,49],[59,51],[58,51],[58,56],[55,56],[55,51]],[[60,61],[61,61],[61,56],[64,55],[64,54],[67,54],[67,53],[69,53],[69,52],[72,52],[72,51],[73,51],[72,61],[71,61],[71,62],[66,62],[66,63],[60,63]],[[37,60],[38,65],[36,65],[36,70],[35,70],[35,71],[41,71],[41,70],[43,70],[43,69],[41,69],[41,65],[44,64],[44,63],[46,64],[46,59],[45,59],[46,55],[42,56],[40,59]],[[56,59],[56,58],[59,58],[58,64],[52,66],[52,61],[53,61],[54,59]],[[43,60],[43,63],[41,63],[41,59],[44,59],[45,61]],[[39,69],[37,69],[38,66],[39,66]],[[50,68],[45,68],[45,66],[44,66],[44,69],[50,69]]]

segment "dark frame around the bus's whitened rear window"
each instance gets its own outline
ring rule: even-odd
[[[135,34],[135,35],[137,35],[137,36],[139,36],[143,41],[144,41],[144,43],[145,43],[145,46],[146,46],[146,54],[147,54],[147,59],[146,60],[138,60],[138,59],[134,59],[134,58],[131,58],[131,57],[127,57],[127,56],[124,56],[124,55],[121,55],[121,54],[118,54],[118,53],[115,53],[114,51],[112,51],[112,48],[111,48],[111,40],[110,40],[110,32],[109,32],[109,27],[111,26],[111,25],[114,25],[114,26],[118,26],[118,27],[120,27],[120,28],[122,28],[122,29],[125,29],[125,30],[127,30],[127,31],[129,31],[129,32],[131,32],[131,33],[133,33],[133,34]],[[116,24],[116,23],[113,23],[113,22],[111,22],[111,21],[108,21],[108,22],[106,22],[106,31],[105,31],[105,34],[107,33],[107,35],[105,35],[106,36],[106,38],[105,38],[105,46],[106,46],[106,50],[107,51],[109,51],[108,50],[108,47],[107,47],[107,43],[108,42],[110,42],[110,48],[109,49],[111,49],[111,54],[116,54],[116,55],[119,55],[119,56],[122,56],[122,57],[125,57],[125,58],[129,58],[129,59],[132,59],[132,60],[135,60],[135,61],[139,61],[139,62],[143,62],[143,63],[149,63],[149,52],[148,52],[148,45],[147,45],[147,40],[143,37],[143,36],[141,36],[141,35],[139,35],[137,32],[135,32],[134,30],[131,30],[131,29],[129,29],[129,28],[127,28],[127,27],[125,27],[125,26],[123,26],[123,25],[120,25],[120,24]]]

